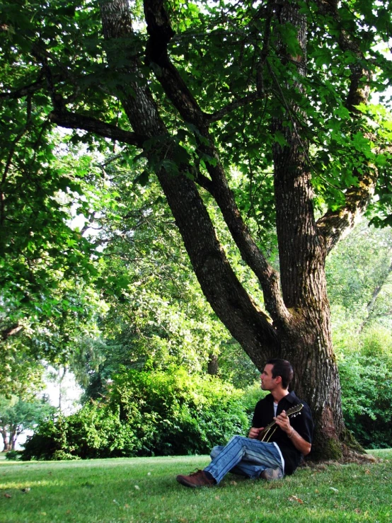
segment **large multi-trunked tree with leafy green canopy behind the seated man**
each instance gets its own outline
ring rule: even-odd
[[[77,130],[74,139],[88,147],[120,144],[134,171],[142,167],[139,180],[158,178],[202,292],[251,360],[259,368],[272,356],[293,362],[323,456],[339,455],[345,439],[325,258],[376,189],[388,201],[391,125],[369,105],[390,76],[388,4],[1,7],[1,223],[9,224],[23,177],[56,185],[45,156],[54,125]],[[234,185],[238,171],[243,187]],[[258,277],[265,311],[234,272],[206,199]],[[272,223],[279,272],[267,257]]]

